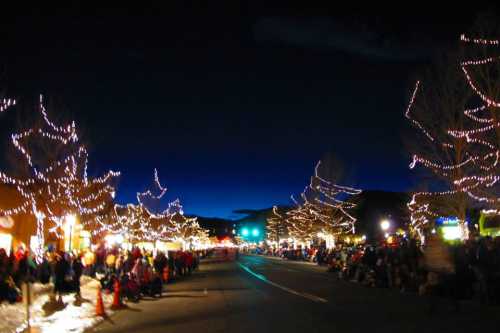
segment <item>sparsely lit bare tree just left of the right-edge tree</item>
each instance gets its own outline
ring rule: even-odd
[[[434,192],[420,191],[412,197],[409,209],[413,232],[421,232],[424,225],[432,226],[427,221],[438,216],[456,216],[462,226],[465,222],[469,200],[455,180],[467,172],[468,163],[463,162],[468,154],[468,142],[448,132],[463,130],[468,122],[463,111],[472,92],[457,66],[462,57],[463,49],[438,58],[424,79],[417,82],[405,113],[415,129],[413,135],[406,136],[413,156],[410,167],[425,166],[424,175],[434,187],[440,188]]]

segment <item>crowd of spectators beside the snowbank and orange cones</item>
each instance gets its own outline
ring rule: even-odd
[[[81,297],[80,281],[87,275],[100,281],[103,290],[113,291],[118,281],[123,297],[138,301],[142,296],[161,295],[163,284],[190,275],[204,251],[146,251],[138,247],[124,251],[104,245],[85,251],[63,252],[49,248],[41,262],[23,247],[7,254],[0,249],[0,303],[22,299],[24,282],[51,283],[58,301],[67,293]]]

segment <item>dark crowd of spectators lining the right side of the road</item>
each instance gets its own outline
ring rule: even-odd
[[[415,240],[401,239],[392,244],[338,244],[333,249],[269,248],[264,253],[315,262],[339,279],[368,287],[453,300],[476,297],[483,304],[500,304],[500,237],[452,245],[432,236],[423,247]]]

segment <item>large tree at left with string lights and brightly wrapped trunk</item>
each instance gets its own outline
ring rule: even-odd
[[[36,256],[40,259],[49,234],[61,237],[68,217],[79,216],[83,222],[93,219],[114,197],[112,181],[119,173],[109,171],[100,178],[87,176],[88,154],[79,142],[74,122],[57,126],[50,121],[40,97],[38,126],[12,134],[11,141],[19,153],[19,176],[0,172],[0,181],[14,187],[23,198],[17,207],[1,210],[3,216],[29,213],[36,218]],[[40,146],[49,142],[53,154],[44,154]],[[24,162],[24,165],[21,164]],[[50,224],[47,224],[49,222]]]

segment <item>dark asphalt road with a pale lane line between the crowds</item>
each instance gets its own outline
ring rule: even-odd
[[[474,332],[498,330],[498,308],[443,301],[430,315],[424,298],[336,281],[324,268],[241,256],[202,263],[167,286],[161,299],[116,313],[93,332]]]

